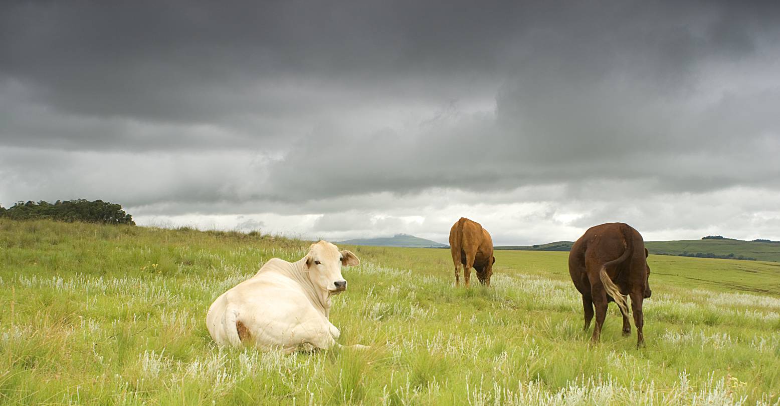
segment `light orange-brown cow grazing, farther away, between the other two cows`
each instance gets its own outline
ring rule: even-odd
[[[490,286],[493,274],[493,239],[488,230],[475,221],[460,217],[449,230],[449,250],[452,252],[452,263],[455,264],[455,285],[460,285],[459,269],[463,267],[463,277],[466,287],[469,286],[471,267],[477,270],[480,283]]]

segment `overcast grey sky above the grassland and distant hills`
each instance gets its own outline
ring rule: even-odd
[[[778,2],[2,2],[0,204],[780,240]]]

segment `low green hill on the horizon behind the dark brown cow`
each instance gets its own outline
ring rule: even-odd
[[[569,251],[574,242],[558,241],[540,245],[516,245],[495,247],[496,249],[523,251]],[[680,241],[646,241],[645,246],[651,254],[696,256],[697,253],[711,253],[715,256],[747,257],[761,261],[780,262],[780,243],[742,241],[731,238],[700,239]]]

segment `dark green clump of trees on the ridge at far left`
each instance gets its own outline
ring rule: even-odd
[[[40,220],[49,219],[55,221],[83,221],[85,223],[103,224],[130,224],[135,225],[133,216],[125,213],[122,206],[116,203],[108,203],[97,199],[90,202],[86,199],[57,200],[48,203],[17,202],[9,209],[0,207],[0,217],[8,217],[13,220]]]

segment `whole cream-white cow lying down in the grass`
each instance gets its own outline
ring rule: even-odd
[[[254,344],[293,352],[331,348],[341,332],[330,321],[331,295],[346,290],[341,267],[360,259],[330,242],[312,244],[295,263],[273,258],[254,277],[220,295],[206,315],[220,345]]]

